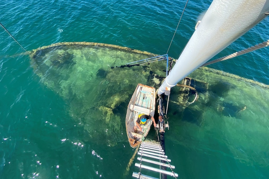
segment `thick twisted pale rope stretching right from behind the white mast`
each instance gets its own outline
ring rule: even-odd
[[[212,61],[210,61],[208,63],[203,64],[201,67],[204,67],[204,66],[210,65],[210,64],[214,64],[214,63],[217,63],[217,62],[220,62],[220,61],[224,61],[224,60],[227,60],[227,59],[231,59],[233,57],[237,57],[237,56],[242,55],[242,54],[247,54],[249,52],[252,52],[254,50],[261,49],[261,48],[264,48],[264,47],[267,47],[267,46],[269,46],[269,40],[264,41],[264,42],[262,42],[260,44],[254,45],[252,47],[249,47],[247,49],[243,49],[243,50],[241,50],[239,52],[235,52],[233,54],[226,55],[225,57],[221,57],[221,58],[212,60]]]

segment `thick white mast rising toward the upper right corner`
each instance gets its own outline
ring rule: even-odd
[[[262,21],[268,12],[269,0],[214,0],[174,68],[159,88],[158,95],[163,94],[166,87],[174,87],[249,31]]]

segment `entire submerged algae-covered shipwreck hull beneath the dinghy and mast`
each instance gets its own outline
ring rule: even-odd
[[[83,127],[84,140],[108,146],[126,141],[125,115],[138,83],[158,88],[166,62],[111,68],[156,56],[99,43],[58,43],[31,51],[41,82],[69,104],[70,115]],[[267,166],[269,150],[268,86],[210,68],[189,75],[198,101],[182,106],[182,89],[171,90],[166,137],[188,148],[211,148],[223,140],[222,153],[244,163]],[[187,100],[192,101],[192,94]],[[188,130],[185,130],[188,129]],[[174,138],[174,136],[177,136]],[[218,149],[219,150],[219,149]]]

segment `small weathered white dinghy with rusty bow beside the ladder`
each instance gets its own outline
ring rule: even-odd
[[[138,84],[135,92],[129,102],[126,114],[126,132],[132,148],[136,148],[142,138],[146,137],[149,133],[152,119],[148,119],[146,124],[141,125],[143,131],[135,130],[136,120],[138,115],[145,114],[154,116],[155,112],[155,88],[143,84]]]

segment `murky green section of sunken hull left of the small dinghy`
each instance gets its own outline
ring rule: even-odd
[[[112,69],[155,56],[116,45],[58,43],[30,53],[41,82],[68,102],[70,115],[84,129],[84,140],[109,146],[127,139],[126,106],[137,84],[153,86],[150,73],[165,75],[160,70],[165,69],[165,62]]]

